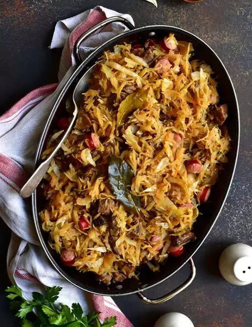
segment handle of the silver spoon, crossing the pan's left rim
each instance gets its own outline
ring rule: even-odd
[[[38,166],[38,168],[35,170],[35,172],[32,174],[32,176],[29,178],[29,180],[25,183],[25,185],[20,190],[19,194],[23,198],[28,198],[29,196],[31,196],[32,193],[34,192],[34,190],[39,185],[40,181],[42,180],[45,173],[47,172],[47,169],[48,169],[48,167],[50,165],[51,159],[55,156],[55,154],[59,150],[60,146],[64,143],[64,141],[66,140],[68,134],[70,133],[70,131],[71,131],[73,125],[74,125],[74,122],[76,120],[77,114],[78,114],[78,108],[75,105],[75,110],[74,110],[74,113],[73,113],[73,119],[71,120],[71,123],[69,124],[69,127],[68,127],[66,133],[64,134],[64,136],[62,136],[62,138],[59,141],[58,145],[55,147],[55,149],[52,151],[52,153],[48,156],[48,158],[46,160],[44,160],[41,163],[41,165]]]

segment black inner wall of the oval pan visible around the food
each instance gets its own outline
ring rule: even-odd
[[[215,78],[219,84],[218,91],[221,97],[220,102],[227,103],[229,108],[229,117],[226,121],[226,125],[232,139],[231,150],[229,152],[229,162],[226,164],[225,170],[221,173],[218,182],[212,189],[210,201],[200,206],[199,210],[202,215],[198,217],[193,229],[197,236],[196,241],[187,244],[184,253],[180,257],[169,258],[167,262],[161,266],[159,272],[154,273],[148,268],[147,265],[142,265],[139,268],[139,280],[126,279],[122,283],[111,284],[109,286],[96,281],[95,276],[92,273],[80,273],[75,268],[65,267],[61,264],[59,256],[48,246],[48,233],[44,232],[40,227],[38,212],[44,208],[44,201],[42,200],[43,197],[41,191],[38,188],[33,195],[33,213],[42,246],[52,264],[63,276],[65,276],[65,278],[74,283],[76,286],[89,292],[104,295],[123,295],[134,293],[139,290],[151,287],[175,273],[198,250],[206,238],[220,213],[231,184],[236,163],[239,140],[238,105],[232,83],[223,64],[215,55],[213,50],[211,50],[203,41],[198,39],[196,36],[177,28],[168,26],[152,26],[140,28],[117,36],[116,38],[108,41],[104,46],[100,47],[98,51],[95,51],[89,57],[86,64],[78,70],[78,73],[76,73],[76,78],[73,79],[73,83],[69,86],[65,96],[63,96],[59,102],[58,109],[54,119],[51,121],[50,126],[52,127],[54,122],[60,117],[61,112],[64,110],[64,103],[66,99],[73,94],[73,89],[78,83],[81,75],[83,75],[87,67],[90,67],[95,63],[95,61],[101,56],[104,50],[113,50],[114,45],[123,44],[124,42],[144,44],[145,40],[150,38],[150,33],[152,33],[152,37],[159,40],[170,32],[174,33],[177,40],[191,42],[195,50],[194,58],[204,60],[207,64],[210,64],[215,72]],[[38,157],[40,157],[40,153],[38,153]]]

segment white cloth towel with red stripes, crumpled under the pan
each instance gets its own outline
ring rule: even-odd
[[[62,287],[59,302],[68,305],[80,302],[85,313],[94,306],[102,312],[101,320],[115,315],[118,327],[132,327],[133,324],[110,297],[91,296],[67,282],[52,268],[39,246],[30,215],[30,201],[19,196],[20,188],[33,171],[38,140],[53,103],[74,70],[72,51],[76,40],[86,30],[111,16],[123,16],[134,24],[131,16],[103,7],[57,22],[51,48],[64,47],[58,73],[60,83],[30,92],[0,117],[0,213],[13,231],[7,258],[9,278],[21,287],[26,298],[31,299],[31,293],[43,291],[44,286],[58,285]],[[82,47],[83,59],[96,46],[123,30],[124,27],[114,23],[91,36]]]

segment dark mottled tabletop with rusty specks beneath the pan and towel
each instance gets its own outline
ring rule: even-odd
[[[0,2],[0,110],[4,112],[29,91],[57,80],[59,50],[49,50],[56,21],[97,5],[92,0],[2,0]],[[234,181],[222,213],[210,236],[195,255],[197,277],[174,299],[150,306],[137,296],[115,301],[136,327],[153,326],[168,311],[188,315],[196,327],[250,327],[251,285],[232,286],[218,271],[221,251],[231,243],[252,245],[252,3],[251,0],[205,0],[190,5],[180,0],[158,0],[158,9],[142,0],[101,0],[102,5],[129,13],[136,26],[174,25],[203,38],[226,65],[237,92],[241,116],[241,142]],[[1,149],[0,149],[1,151]],[[4,288],[9,284],[5,258],[10,231],[1,223],[2,270],[0,325],[17,326],[8,309]],[[158,297],[179,285],[188,267],[146,292]],[[181,326],[183,327],[183,326]]]

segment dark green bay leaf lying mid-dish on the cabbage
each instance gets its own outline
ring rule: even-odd
[[[110,155],[108,162],[108,180],[111,190],[125,208],[138,214],[141,209],[141,198],[129,191],[135,174],[130,165],[120,157]]]

